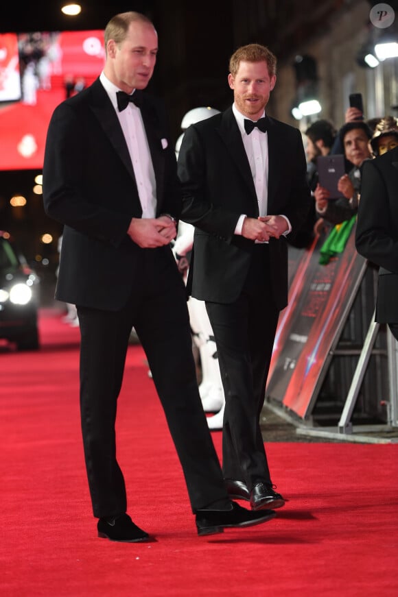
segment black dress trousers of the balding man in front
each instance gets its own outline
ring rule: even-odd
[[[127,509],[124,476],[116,459],[115,420],[132,327],[148,358],[192,511],[227,499],[198,391],[185,285],[169,251],[169,247],[141,249],[134,273],[137,283],[121,310],[78,306],[80,411],[95,517],[115,516]]]

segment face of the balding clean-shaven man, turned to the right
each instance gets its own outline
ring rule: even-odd
[[[110,39],[107,45],[105,74],[126,93],[145,89],[156,63],[158,36],[150,23],[130,23],[128,34],[117,44]]]

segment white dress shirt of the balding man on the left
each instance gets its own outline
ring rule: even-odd
[[[100,81],[115,108],[126,139],[137,182],[142,217],[154,218],[156,217],[156,180],[141,110],[132,101],[129,101],[127,108],[119,112],[116,93],[120,89],[106,78],[104,72],[100,75]]]

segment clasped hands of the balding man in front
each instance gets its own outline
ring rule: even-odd
[[[155,249],[175,239],[177,228],[176,223],[167,216],[132,218],[127,234],[141,249]]]

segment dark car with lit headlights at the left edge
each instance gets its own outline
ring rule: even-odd
[[[0,230],[0,339],[18,350],[37,350],[38,283],[8,232]]]

